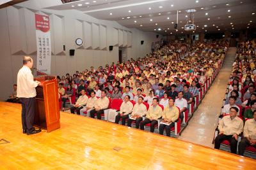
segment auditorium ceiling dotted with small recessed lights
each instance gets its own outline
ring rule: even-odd
[[[129,28],[174,34],[187,23],[196,25],[195,32],[240,31],[256,26],[255,0],[82,0],[47,6],[51,10],[79,10],[102,20],[114,20]],[[193,13],[186,10],[195,9]],[[191,20],[191,22],[189,22]],[[161,30],[160,30],[161,29]],[[176,33],[177,33],[176,32]]]

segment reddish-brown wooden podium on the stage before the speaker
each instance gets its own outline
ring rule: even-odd
[[[56,76],[37,76],[41,85],[36,87],[34,125],[47,132],[60,128],[60,106]]]

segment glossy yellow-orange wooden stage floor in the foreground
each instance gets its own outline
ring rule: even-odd
[[[0,103],[0,169],[256,169],[253,159],[63,112],[61,129],[28,136],[20,110]]]

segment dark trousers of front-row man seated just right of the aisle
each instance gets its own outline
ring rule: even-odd
[[[237,150],[237,140],[232,137],[232,135],[219,134],[214,140],[214,148],[220,149],[221,142],[228,140],[230,143],[231,153],[236,153]]]

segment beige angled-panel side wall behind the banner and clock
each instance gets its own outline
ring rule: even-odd
[[[29,4],[29,5],[28,5]],[[98,20],[80,11],[42,10],[38,4],[21,3],[0,9],[0,100],[6,99],[16,83],[22,57],[31,55],[36,67],[35,13],[50,16],[51,26],[51,74],[63,75],[90,66],[104,66],[118,60],[118,48],[127,47],[127,59],[143,57],[151,50],[151,43],[159,41],[154,32],[123,27],[117,22]],[[77,46],[76,38],[84,43]],[[144,44],[141,45],[140,41]],[[63,45],[66,50],[63,51]],[[113,45],[113,51],[109,46]],[[69,50],[75,55],[69,56]]]

